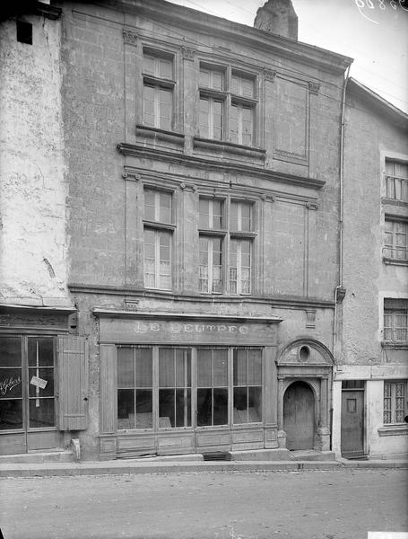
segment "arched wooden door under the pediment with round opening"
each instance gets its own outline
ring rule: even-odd
[[[308,384],[294,382],[286,390],[283,397],[283,429],[288,449],[313,449],[315,397]]]

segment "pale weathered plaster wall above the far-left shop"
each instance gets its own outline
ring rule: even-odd
[[[60,22],[30,15],[0,31],[0,300],[69,304]]]

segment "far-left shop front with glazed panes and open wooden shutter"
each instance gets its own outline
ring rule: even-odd
[[[0,306],[0,455],[69,445],[86,429],[86,340],[74,309]]]

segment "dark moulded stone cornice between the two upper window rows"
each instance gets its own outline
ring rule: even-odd
[[[134,155],[135,157],[147,157],[160,161],[183,163],[187,166],[195,166],[196,168],[201,168],[203,170],[213,170],[218,172],[238,172],[242,174],[249,174],[252,177],[256,178],[271,181],[281,181],[282,183],[287,183],[290,185],[300,185],[302,187],[308,187],[310,189],[321,189],[326,184],[326,181],[316,180],[314,178],[304,178],[302,176],[295,176],[293,174],[269,171],[265,170],[265,168],[249,166],[247,164],[220,163],[220,161],[205,159],[204,157],[197,157],[195,155],[182,155],[180,153],[158,150],[156,148],[148,148],[141,145],[120,143],[117,145],[117,150],[123,155]]]

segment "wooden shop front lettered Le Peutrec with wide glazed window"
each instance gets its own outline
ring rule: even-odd
[[[94,309],[100,458],[277,447],[277,317]]]

